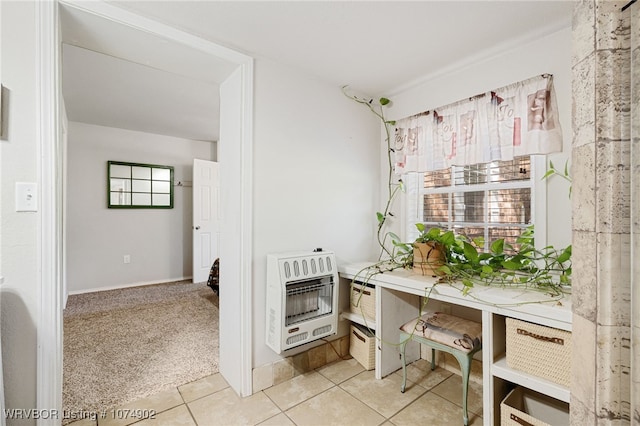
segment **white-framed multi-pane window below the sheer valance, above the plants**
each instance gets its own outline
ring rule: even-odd
[[[516,246],[518,236],[534,223],[536,210],[544,211],[542,205],[535,208],[535,203],[544,202],[543,196],[535,196],[540,181],[536,162],[533,156],[525,156],[415,174],[420,177],[414,178],[416,188],[410,190],[417,201],[409,228],[422,222],[427,227],[453,229],[469,239],[483,237],[484,250],[500,238]]]

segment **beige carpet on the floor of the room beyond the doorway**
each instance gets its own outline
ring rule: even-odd
[[[175,282],[69,296],[63,407],[99,411],[218,372],[218,297]]]

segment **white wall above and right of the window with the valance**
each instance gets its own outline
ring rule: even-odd
[[[388,118],[401,119],[544,73],[553,74],[564,137],[563,152],[551,154],[549,159],[556,167],[564,167],[570,158],[572,139],[571,28],[495,54],[486,61],[425,77],[419,84],[391,93],[393,105]],[[565,247],[571,244],[568,184],[559,177],[549,180],[547,198],[547,243]]]

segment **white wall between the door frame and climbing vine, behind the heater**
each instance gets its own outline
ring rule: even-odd
[[[333,250],[339,263],[375,253],[379,131],[340,87],[267,60],[255,66],[254,366],[265,345],[266,255]],[[222,290],[224,298],[224,289]]]

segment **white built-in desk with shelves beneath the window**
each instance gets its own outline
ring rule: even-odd
[[[358,273],[373,262],[341,265],[340,277],[351,282]],[[364,275],[358,275],[359,280]],[[536,324],[571,331],[571,298],[560,300],[532,290],[503,289],[476,286],[463,295],[459,288],[448,284],[437,284],[436,278],[414,274],[399,269],[377,274],[367,282],[376,286],[376,322],[368,326],[376,331],[376,378],[380,379],[401,368],[397,346],[399,327],[419,315],[419,297],[428,295],[437,300],[473,308],[481,312],[482,318],[482,374],[483,374],[483,419],[485,425],[500,422],[500,401],[506,395],[506,382],[569,402],[570,391],[564,386],[542,378],[513,370],[505,358],[505,318],[517,318]],[[362,317],[343,312],[343,318],[362,323]],[[417,346],[417,345],[414,345]],[[420,357],[419,348],[407,346],[407,362]],[[398,390],[399,391],[399,390]]]

